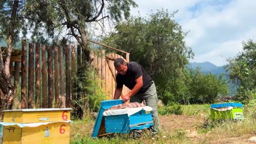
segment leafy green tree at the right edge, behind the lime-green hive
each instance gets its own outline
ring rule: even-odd
[[[230,65],[226,69],[230,71],[230,81],[239,86],[238,100],[248,102],[256,86],[256,43],[249,39],[242,44],[243,51],[228,59]]]

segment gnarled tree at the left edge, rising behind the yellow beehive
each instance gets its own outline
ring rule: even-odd
[[[10,61],[11,53],[13,50],[13,45],[15,40],[18,38],[18,33],[20,29],[20,23],[23,20],[19,20],[19,15],[21,14],[21,8],[24,1],[14,0],[14,1],[0,1],[0,38],[7,39],[7,49],[5,49],[4,54],[6,56],[5,61],[2,57],[2,49],[0,46],[0,91],[4,94],[4,102],[6,109],[12,107],[13,101],[13,86],[11,84],[11,74],[10,74]]]

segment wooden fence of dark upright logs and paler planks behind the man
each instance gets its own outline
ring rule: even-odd
[[[114,49],[106,45],[103,46]],[[39,43],[29,43],[27,47],[26,40],[23,40],[22,51],[19,54],[12,55],[10,70],[14,76],[14,93],[17,93],[21,76],[20,108],[51,108],[54,100],[55,108],[71,107],[71,100],[76,99],[75,82],[71,77],[77,75],[76,60],[82,59],[79,46],[77,46],[77,50],[74,45],[51,47]],[[108,99],[112,99],[116,85],[114,60],[123,57],[116,53],[106,55],[105,50],[102,50],[100,55],[92,53],[93,65],[101,78],[102,83],[100,85],[102,89],[109,95]],[[126,53],[125,61],[129,62],[129,53]],[[15,62],[14,67],[12,62]],[[40,90],[41,87],[42,91]],[[129,91],[124,86],[122,96],[129,93]]]

